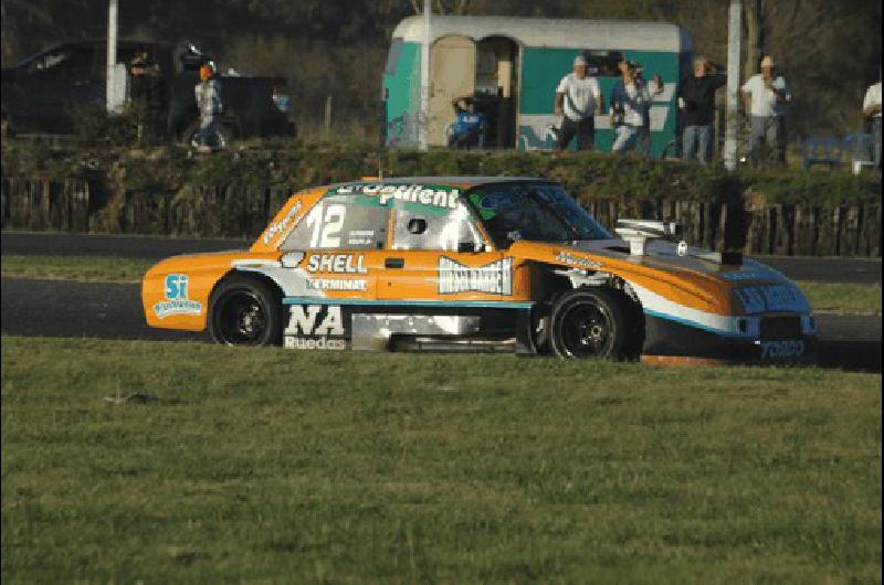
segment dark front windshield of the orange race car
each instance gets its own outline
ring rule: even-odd
[[[507,247],[517,240],[611,238],[604,227],[555,183],[492,185],[473,191],[469,199],[497,247]]]

